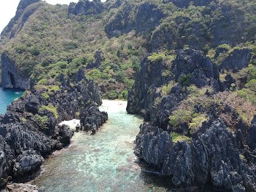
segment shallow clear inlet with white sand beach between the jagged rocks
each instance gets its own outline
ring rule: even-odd
[[[108,112],[108,122],[93,136],[75,133],[68,148],[45,160],[32,184],[49,192],[166,191],[163,179],[148,177],[134,162],[134,140],[143,120],[127,114],[126,104],[104,100],[100,110]]]

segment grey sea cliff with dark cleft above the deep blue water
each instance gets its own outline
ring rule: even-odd
[[[21,88],[24,90],[29,88],[29,77],[20,76],[17,67],[15,66],[15,62],[10,60],[6,52],[3,52],[2,54],[1,63],[1,86],[4,88]]]

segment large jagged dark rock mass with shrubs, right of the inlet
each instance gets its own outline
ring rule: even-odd
[[[218,99],[224,94],[218,92],[236,80],[228,74],[221,82],[218,67],[200,51],[179,50],[169,63],[168,55],[162,57],[155,54],[141,62],[129,92],[127,111],[148,121],[140,127],[134,154],[150,172],[169,177],[175,186],[255,191],[255,117],[248,125],[232,104]],[[246,66],[243,58],[236,58],[230,55],[230,68]],[[195,87],[207,89],[199,96]],[[202,123],[196,122],[203,114]]]

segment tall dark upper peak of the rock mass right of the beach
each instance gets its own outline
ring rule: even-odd
[[[165,72],[171,75],[164,76]],[[163,97],[161,87],[170,81],[173,81],[173,87]],[[200,51],[177,51],[172,67],[168,67],[163,60],[150,61],[144,58],[128,95],[128,113],[140,113],[146,120],[154,120],[159,111],[171,111],[188,94],[182,89],[183,81],[187,81],[187,86],[195,84],[198,88],[211,86],[215,92],[220,91],[222,87],[217,66]],[[157,97],[161,102],[156,106]]]

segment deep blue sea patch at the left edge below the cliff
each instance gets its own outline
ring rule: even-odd
[[[20,90],[3,89],[0,88],[0,114],[6,112],[8,105],[16,98],[19,98],[23,92]]]

